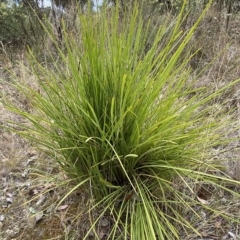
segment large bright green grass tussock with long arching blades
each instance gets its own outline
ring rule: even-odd
[[[177,225],[196,232],[181,213],[188,208],[200,219],[192,204],[211,209],[193,185],[237,183],[214,174],[210,149],[229,142],[223,129],[231,119],[208,109],[235,82],[211,94],[193,87],[191,56],[182,53],[207,9],[187,33],[183,11],[173,26],[159,27],[147,50],[151,31],[137,5],[122,19],[117,8],[79,16],[78,37],[65,31],[65,48],[56,43],[60,62],[47,68],[32,56],[39,89],[14,83],[32,111],[5,101],[31,122],[15,123],[19,134],[76,181],[69,194],[84,187],[94,199],[90,211],[105,206],[92,228],[112,214],[108,239],[178,239]]]

